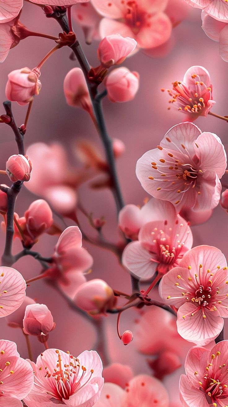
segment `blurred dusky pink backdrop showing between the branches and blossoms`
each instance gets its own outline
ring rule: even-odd
[[[42,9],[34,4],[25,2],[20,20],[28,28],[34,31],[58,35],[58,24],[45,17]],[[92,66],[98,65],[96,48],[98,42],[91,46],[85,45],[83,33],[80,27],[74,29],[85,53]],[[163,138],[166,131],[173,125],[185,120],[184,114],[174,109],[167,110],[168,94],[161,92],[161,88],[169,88],[171,83],[182,80],[187,68],[193,65],[204,66],[211,75],[213,85],[213,99],[216,105],[212,111],[220,115],[228,115],[227,94],[227,63],[218,53],[218,44],[211,41],[201,28],[201,11],[189,7],[188,18],[173,30],[175,45],[172,51],[165,57],[153,59],[139,52],[124,62],[130,70],[140,74],[140,88],[134,101],[129,103],[111,103],[104,99],[104,114],[109,134],[113,138],[120,138],[126,144],[126,151],[117,160],[117,171],[126,203],[141,205],[147,196],[141,188],[135,176],[135,164],[141,155],[155,148]],[[27,38],[13,48],[7,59],[0,65],[0,100],[5,100],[4,88],[7,83],[7,74],[14,69],[28,66],[34,68],[43,56],[52,48],[53,44],[48,39]],[[69,162],[76,164],[74,155],[74,142],[85,138],[93,140],[102,151],[102,146],[96,130],[86,112],[67,106],[63,94],[63,79],[67,72],[74,66],[76,61],[69,59],[67,47],[58,50],[41,70],[42,88],[39,97],[35,97],[33,109],[25,135],[25,146],[37,141],[61,142],[69,153]],[[13,113],[18,125],[24,123],[26,107],[20,107],[13,103]],[[4,114],[4,109],[0,110]],[[202,131],[216,133],[222,140],[225,149],[228,147],[228,124],[225,121],[208,116],[200,117],[195,122]],[[5,168],[5,162],[12,154],[17,153],[16,144],[11,129],[6,125],[0,127],[0,168]],[[78,165],[81,165],[78,162]],[[224,176],[224,182],[228,184],[228,175]],[[7,183],[1,175],[1,183]],[[94,217],[104,216],[106,225],[104,234],[107,239],[116,241],[118,237],[117,223],[115,219],[115,206],[113,197],[107,190],[94,191],[84,185],[79,190],[80,200],[88,212],[93,212]],[[36,199],[26,188],[23,188],[16,202],[16,212],[20,216],[28,208],[29,204]],[[64,227],[61,220],[55,217],[56,222]],[[88,222],[81,218],[86,231],[89,230]],[[70,225],[69,221],[66,221]],[[228,258],[228,215],[218,206],[211,219],[203,225],[192,228],[193,245],[215,245]],[[93,230],[89,230],[91,235]],[[0,232],[1,253],[4,248],[4,233]],[[43,256],[50,256],[56,244],[57,237],[43,235],[39,243],[34,247]],[[103,278],[113,289],[130,292],[130,277],[117,263],[112,253],[98,249],[89,243],[84,243],[94,258],[93,272],[90,278]],[[14,243],[14,253],[21,249],[19,240]],[[24,278],[31,278],[39,274],[40,266],[36,260],[26,257],[15,265]],[[56,328],[50,333],[49,347],[70,350],[78,355],[85,349],[91,349],[95,341],[95,333],[89,323],[82,317],[68,309],[65,301],[44,281],[32,283],[27,289],[27,295],[34,298],[38,303],[46,304],[54,317]],[[122,314],[121,330],[134,331],[134,320],[138,317],[137,311],[129,310]],[[112,361],[126,363],[132,366],[135,374],[141,372],[150,373],[145,357],[141,356],[134,344],[134,340],[125,348],[116,333],[116,315],[104,318],[106,324],[106,338]],[[225,339],[227,336],[227,323],[225,322]],[[155,329],[155,327],[151,327]],[[4,339],[13,340],[18,344],[18,350],[22,357],[27,357],[27,350],[22,333],[19,329],[9,328],[4,319],[0,320],[0,330]],[[165,335],[165,332],[164,332]],[[34,359],[43,349],[42,344],[36,338],[31,338]],[[178,400],[178,381],[182,368],[173,376],[167,376],[165,383],[172,387],[172,400]],[[169,390],[171,392],[171,390]]]

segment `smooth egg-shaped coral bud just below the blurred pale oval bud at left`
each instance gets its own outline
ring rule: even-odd
[[[43,199],[34,201],[26,210],[24,216],[27,231],[34,237],[48,230],[53,223],[52,210]]]

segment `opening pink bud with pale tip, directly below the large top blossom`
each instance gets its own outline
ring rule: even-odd
[[[99,44],[98,59],[106,68],[119,65],[136,46],[137,42],[133,38],[124,38],[120,34],[108,35]]]

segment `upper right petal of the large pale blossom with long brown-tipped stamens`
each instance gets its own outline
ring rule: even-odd
[[[195,153],[202,170],[213,169],[219,178],[226,171],[226,151],[220,138],[214,133],[202,133],[196,140]]]

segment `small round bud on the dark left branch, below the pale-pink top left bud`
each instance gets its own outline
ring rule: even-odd
[[[12,182],[29,181],[32,164],[27,155],[11,155],[6,164],[6,172]]]

